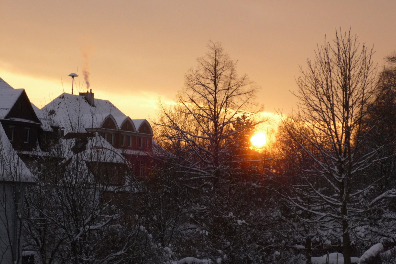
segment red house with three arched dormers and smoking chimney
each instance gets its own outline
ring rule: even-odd
[[[129,161],[136,177],[149,176],[153,132],[147,120],[129,118],[110,101],[95,99],[92,90],[62,93],[41,110],[62,136],[97,132]]]

